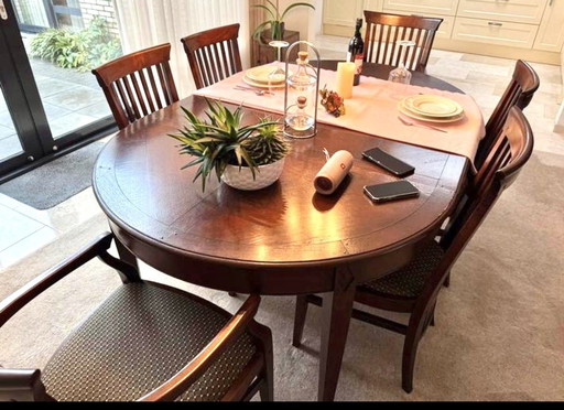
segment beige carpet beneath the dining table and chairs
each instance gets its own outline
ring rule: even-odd
[[[535,153],[453,269],[436,326],[421,342],[414,391],[401,389],[403,338],[354,322],[337,400],[564,399],[563,158]],[[97,217],[2,272],[0,298],[107,228]],[[69,328],[111,289],[116,273],[83,268],[0,330],[0,364],[41,367]],[[99,265],[98,265],[99,266]],[[149,274],[149,273],[148,273]],[[242,296],[187,287],[235,312]],[[258,320],[274,335],[276,400],[317,395],[319,310],[304,345],[291,345],[293,298],[263,298]]]

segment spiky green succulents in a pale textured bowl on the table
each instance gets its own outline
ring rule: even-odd
[[[242,107],[230,111],[220,101],[206,99],[207,119],[200,119],[182,107],[188,125],[178,134],[180,153],[195,157],[183,169],[199,165],[194,181],[202,179],[202,190],[215,173],[218,181],[239,190],[260,190],[275,182],[290,152],[290,143],[278,121],[261,118],[241,126]]]

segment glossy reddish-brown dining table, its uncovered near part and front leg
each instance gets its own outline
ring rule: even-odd
[[[417,78],[431,86],[442,83]],[[243,192],[214,176],[202,192],[199,180],[193,182],[195,169],[181,170],[189,159],[167,137],[185,125],[181,106],[198,115],[207,107],[204,98],[191,96],[144,117],[119,131],[96,162],[94,192],[121,256],[217,290],[323,293],[318,399],[333,400],[356,285],[404,266],[422,241],[436,235],[462,193],[469,161],[318,125],[316,137],[292,141],[273,185]],[[245,111],[248,122],[264,115]],[[408,180],[421,191],[417,198],[377,205],[364,195],[365,185],[397,180],[361,159],[373,147],[415,166]],[[316,194],[313,186],[325,163],[324,148],[355,157],[349,176],[330,196]]]

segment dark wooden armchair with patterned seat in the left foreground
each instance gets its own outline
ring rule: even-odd
[[[272,336],[253,320],[260,298],[249,296],[231,315],[187,292],[142,281],[137,269],[108,253],[112,238],[99,236],[0,303],[2,326],[95,257],[123,281],[43,370],[0,366],[0,400],[235,401],[257,391],[272,400]]]

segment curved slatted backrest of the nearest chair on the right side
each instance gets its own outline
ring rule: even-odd
[[[425,284],[421,303],[426,313],[432,309],[451,267],[479,228],[501,193],[510,186],[533,151],[533,133],[521,109],[512,107],[488,152],[484,166],[475,175],[468,190],[468,201],[456,216],[454,233],[445,236],[442,245],[445,256]],[[421,311],[421,309],[420,309]]]

